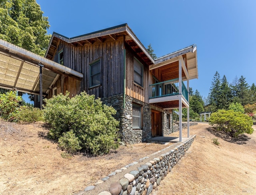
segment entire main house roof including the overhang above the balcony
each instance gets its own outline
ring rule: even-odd
[[[55,52],[58,48],[60,40],[72,44],[74,46],[86,46],[90,44],[100,44],[107,41],[113,41],[122,39],[126,44],[134,50],[134,52],[140,56],[140,58],[150,67],[160,67],[164,65],[171,64],[172,62],[178,61],[179,56],[186,56],[186,66],[188,68],[189,79],[198,78],[198,68],[197,68],[197,48],[196,45],[188,46],[184,49],[172,52],[160,58],[154,60],[152,56],[148,53],[148,50],[142,45],[140,40],[136,37],[134,32],[130,29],[127,24],[121,24],[111,28],[106,28],[103,30],[98,30],[88,34],[83,34],[80,36],[75,36],[68,38],[61,34],[54,32],[50,40],[45,57],[53,60]],[[170,66],[169,66],[170,67]],[[169,68],[169,67],[165,67]],[[173,69],[174,67],[172,67]],[[162,70],[166,72],[166,70]],[[184,73],[183,73],[184,74]],[[186,77],[182,78],[186,80]]]

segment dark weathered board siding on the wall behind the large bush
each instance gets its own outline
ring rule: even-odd
[[[60,41],[54,61],[58,62],[58,53],[64,52],[64,66],[84,74],[81,91],[104,98],[123,93],[124,85],[124,40],[74,46]],[[90,88],[90,64],[100,60],[99,86]]]

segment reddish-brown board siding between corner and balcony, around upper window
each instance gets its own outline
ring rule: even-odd
[[[134,83],[134,57],[143,65],[143,87]],[[148,103],[150,84],[149,68],[134,52],[126,48],[126,92],[125,94]]]

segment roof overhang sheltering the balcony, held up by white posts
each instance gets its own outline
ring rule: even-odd
[[[189,79],[198,78],[198,66],[197,66],[197,50],[196,45],[188,46],[184,49],[172,52],[155,60],[155,63],[149,66],[149,69],[160,68],[178,62],[180,56],[182,58],[186,56],[186,66],[188,70]],[[182,78],[186,80],[186,77]]]

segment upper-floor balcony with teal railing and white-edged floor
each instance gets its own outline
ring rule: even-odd
[[[173,79],[149,86],[149,103],[154,103],[164,109],[178,108],[179,93],[179,80]],[[182,82],[182,107],[188,107],[188,90]]]

